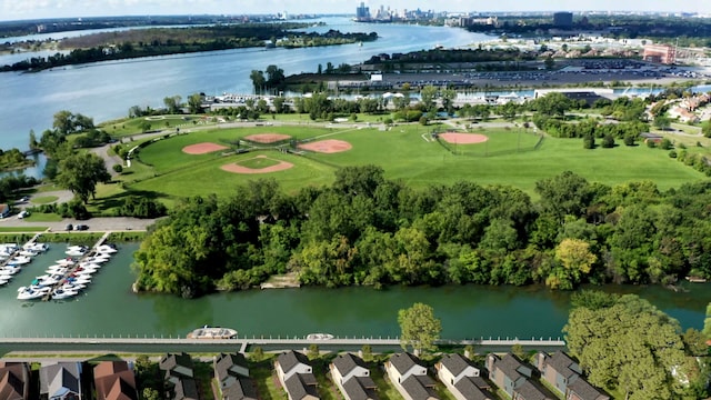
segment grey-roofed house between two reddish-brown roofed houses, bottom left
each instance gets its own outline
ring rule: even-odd
[[[57,362],[40,367],[40,396],[49,400],[79,400],[81,363]]]

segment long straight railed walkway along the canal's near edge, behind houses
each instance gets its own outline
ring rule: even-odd
[[[479,339],[442,339],[438,346],[474,346],[505,348],[520,344],[531,349],[564,348],[565,341],[560,338],[479,338]],[[47,337],[47,338],[0,338],[0,346],[8,349],[147,349],[154,348],[159,352],[168,348],[217,349],[239,347],[244,352],[249,347],[260,346],[270,349],[299,349],[311,344],[320,348],[339,349],[371,346],[372,348],[397,348],[397,337],[334,337],[332,339],[308,339],[307,337],[251,337],[234,339],[186,339],[172,337],[127,336],[127,337]]]

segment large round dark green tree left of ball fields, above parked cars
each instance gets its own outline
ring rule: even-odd
[[[59,162],[57,182],[87,203],[97,193],[97,184],[111,180],[107,166],[94,153],[74,153]]]

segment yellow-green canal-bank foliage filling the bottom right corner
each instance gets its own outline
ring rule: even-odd
[[[709,347],[695,329],[634,294],[582,291],[563,328],[593,386],[619,399],[703,399]],[[617,394],[617,396],[615,396]]]

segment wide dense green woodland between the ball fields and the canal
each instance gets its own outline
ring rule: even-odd
[[[137,253],[138,288],[199,296],[298,272],[303,284],[673,284],[711,278],[711,183],[660,192],[564,172],[523,191],[459,182],[414,190],[379,167],[284,194],[274,180],[187,199]]]

